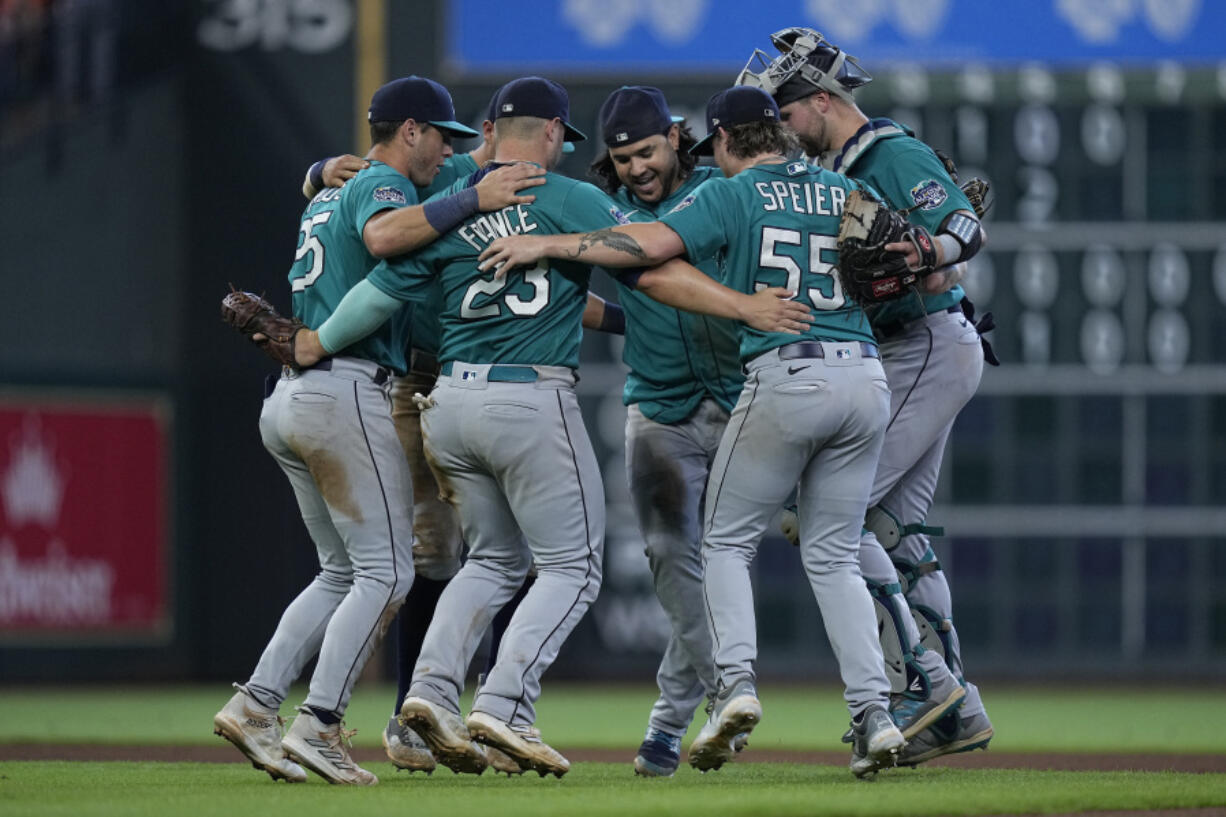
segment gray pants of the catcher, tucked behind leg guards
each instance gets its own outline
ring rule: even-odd
[[[983,348],[975,326],[961,312],[938,312],[912,321],[880,347],[881,364],[890,383],[890,422],[885,431],[881,456],[873,480],[869,507],[881,505],[901,524],[923,523],[937,493],[937,480],[945,453],[945,443],[962,410],[983,375]],[[877,537],[864,532],[861,545],[880,548]],[[920,566],[934,562],[929,539],[917,532],[904,536],[889,551],[895,563]],[[877,559],[869,559],[880,564]],[[894,581],[896,574],[866,577],[874,581]],[[934,621],[943,629],[945,662],[962,678],[962,660],[949,581],[943,570],[924,573],[906,583],[907,602]],[[913,619],[908,635],[918,642]],[[961,712],[975,715],[983,710],[978,689],[967,683]]]

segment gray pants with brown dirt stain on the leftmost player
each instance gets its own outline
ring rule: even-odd
[[[370,361],[286,373],[264,401],[264,445],[289,477],[320,572],[291,602],[248,689],[271,707],[316,653],[306,705],[341,715],[413,581],[408,464],[390,384]]]

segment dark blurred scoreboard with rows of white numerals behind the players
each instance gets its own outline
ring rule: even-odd
[[[993,188],[965,286],[994,313],[1003,366],[986,368],[959,417],[929,518],[949,531],[934,546],[969,660],[982,672],[1019,672],[1019,654],[1026,673],[1220,671],[1226,71],[906,66],[878,75],[861,107]],[[586,361],[617,359],[618,345],[587,342],[580,388],[601,418],[612,520],[629,513],[622,372]],[[658,649],[642,639],[656,602],[634,526],[611,530],[608,547],[602,638]],[[763,670],[828,666],[794,551],[769,540],[755,569],[771,622]]]

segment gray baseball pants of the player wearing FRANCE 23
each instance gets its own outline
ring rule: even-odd
[[[492,379],[509,369],[535,369],[537,379]],[[601,586],[604,488],[575,379],[560,367],[472,363],[439,377],[422,412],[425,455],[460,515],[468,558],[439,599],[411,696],[460,712],[482,637],[536,562],[537,580],[472,707],[512,725],[536,720],[541,675]]]

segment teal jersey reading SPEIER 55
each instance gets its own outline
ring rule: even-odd
[[[801,336],[741,331],[741,359],[802,340],[873,341],[864,310],[843,294],[834,266],[847,191],[864,185],[805,162],[780,162],[712,178],[661,221],[691,259],[718,254],[725,286],[745,293],[787,287],[813,308]]]

